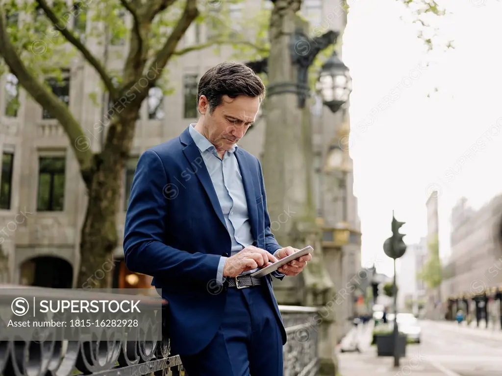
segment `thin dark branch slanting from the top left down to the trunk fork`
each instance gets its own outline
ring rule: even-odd
[[[94,55],[91,54],[91,52],[83,45],[82,42],[80,42],[80,39],[76,38],[75,35],[68,30],[66,25],[64,25],[56,16],[56,14],[52,11],[52,9],[47,5],[46,0],[37,0],[37,3],[40,5],[42,10],[44,11],[45,15],[47,18],[53,23],[53,25],[56,27],[57,30],[63,35],[63,37],[70,42],[73,46],[76,47],[78,51],[82,53],[84,56],[85,60],[94,67],[96,72],[99,74],[101,77],[101,80],[103,80],[104,86],[110,93],[110,97],[112,99],[117,99],[117,90],[113,86],[113,83],[111,81],[111,77],[106,73],[106,70],[104,67],[101,65],[101,63],[96,59]]]

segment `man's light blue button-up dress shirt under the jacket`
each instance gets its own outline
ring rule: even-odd
[[[190,135],[200,150],[200,154],[206,165],[209,176],[216,191],[216,196],[225,218],[226,228],[232,240],[231,255],[235,255],[247,246],[253,245],[253,234],[251,223],[247,212],[246,195],[239,164],[235,157],[238,146],[234,145],[230,150],[225,151],[223,158],[218,156],[216,147],[195,128],[195,124],[190,124]],[[277,253],[277,252],[276,252]],[[216,281],[223,283],[223,268],[227,257],[222,256],[218,264]],[[250,270],[242,274],[249,274],[259,269]],[[274,272],[278,276],[284,274]]]

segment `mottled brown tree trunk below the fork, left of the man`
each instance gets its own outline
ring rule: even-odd
[[[116,217],[123,170],[131,151],[138,110],[112,119],[106,146],[96,156],[80,239],[77,288],[109,288],[113,250],[118,245]]]

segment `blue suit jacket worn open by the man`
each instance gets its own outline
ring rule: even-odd
[[[281,247],[270,231],[260,161],[241,148],[236,157],[254,245],[273,254]],[[227,292],[214,286],[220,257],[230,254],[231,244],[211,178],[188,128],[145,151],[132,184],[124,258],[131,271],[153,276],[152,284],[169,301],[173,351],[197,353],[216,334]],[[270,274],[265,280],[286,343]]]

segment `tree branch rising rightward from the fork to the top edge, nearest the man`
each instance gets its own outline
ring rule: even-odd
[[[199,10],[197,9],[197,0],[187,0],[183,15],[179,19],[176,27],[168,37],[162,49],[158,52],[149,71],[161,72],[164,69],[169,59],[173,56],[178,42],[198,15]],[[159,78],[159,75],[154,75],[152,79],[149,79],[149,85],[147,85],[144,90],[149,90],[150,87],[155,85],[155,82]]]

